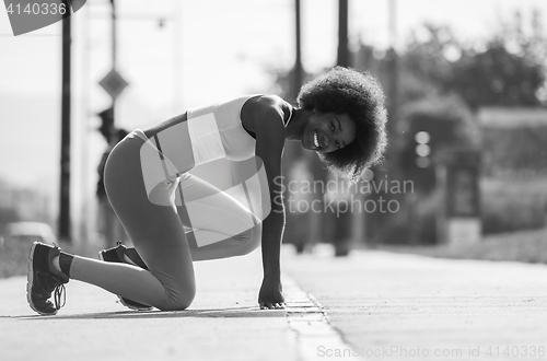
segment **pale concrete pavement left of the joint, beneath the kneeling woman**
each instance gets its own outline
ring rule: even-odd
[[[187,311],[133,312],[96,287],[71,280],[67,304],[42,317],[26,278],[0,281],[0,360],[298,360],[286,311],[259,310],[260,253],[196,263]]]

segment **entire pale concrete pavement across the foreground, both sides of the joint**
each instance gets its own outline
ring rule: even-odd
[[[288,246],[284,311],[257,306],[260,252],[195,267],[182,312],[128,311],[70,281],[67,305],[43,317],[26,278],[1,280],[0,360],[547,359],[546,265]]]

